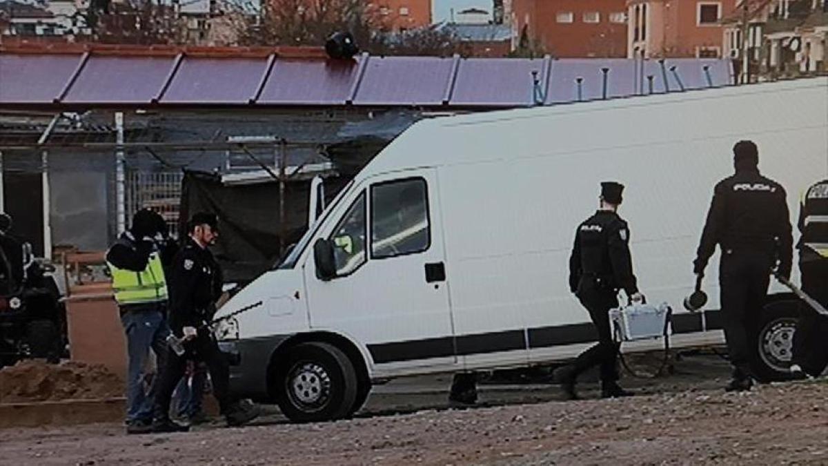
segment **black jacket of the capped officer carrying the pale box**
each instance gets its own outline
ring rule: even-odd
[[[575,231],[570,255],[570,290],[576,293],[583,279],[594,280],[604,289],[638,293],[629,252],[627,222],[615,212],[597,211]]]

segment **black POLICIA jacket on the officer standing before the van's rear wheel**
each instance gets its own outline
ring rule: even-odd
[[[782,185],[756,169],[738,170],[719,182],[693,262],[696,274],[704,272],[716,245],[777,255],[779,272],[790,275],[793,237]]]

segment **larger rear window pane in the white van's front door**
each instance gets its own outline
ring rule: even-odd
[[[431,245],[426,180],[412,178],[371,188],[371,257],[416,254]]]

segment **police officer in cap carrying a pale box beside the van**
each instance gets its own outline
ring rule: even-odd
[[[618,291],[623,289],[632,301],[643,301],[638,293],[629,252],[627,222],[618,215],[623,185],[602,182],[599,211],[586,219],[575,231],[575,245],[570,256],[570,290],[590,312],[598,331],[598,344],[581,353],[574,363],[557,369],[553,376],[569,400],[578,398],[575,381],[592,366],[600,366],[601,396],[629,396],[619,384],[616,361],[619,343],[613,341],[609,309],[619,307]]]

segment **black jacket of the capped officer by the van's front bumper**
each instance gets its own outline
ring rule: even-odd
[[[168,281],[173,333],[181,336],[182,328],[198,328],[213,317],[223,280],[219,263],[208,249],[187,238],[173,260]]]

